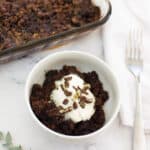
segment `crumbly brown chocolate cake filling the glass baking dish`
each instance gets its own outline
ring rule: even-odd
[[[91,0],[1,0],[0,50],[94,22]]]

